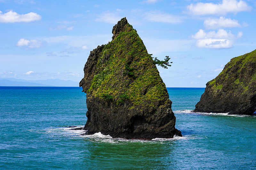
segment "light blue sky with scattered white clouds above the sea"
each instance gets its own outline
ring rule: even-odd
[[[256,49],[256,0],[0,0],[0,78],[79,82],[94,48],[121,18],[166,87],[205,87],[231,58]]]

